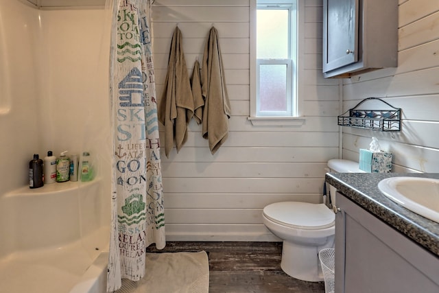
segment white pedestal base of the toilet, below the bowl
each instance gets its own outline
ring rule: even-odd
[[[303,246],[283,241],[281,268],[289,276],[302,281],[323,281],[318,252],[333,246],[333,239],[326,246]]]

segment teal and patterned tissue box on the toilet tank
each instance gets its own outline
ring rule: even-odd
[[[359,150],[359,169],[369,173],[390,173],[392,171],[392,154],[390,152],[372,152]]]

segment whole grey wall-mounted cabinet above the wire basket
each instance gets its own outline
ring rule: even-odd
[[[398,0],[323,1],[324,78],[349,78],[398,62]]]

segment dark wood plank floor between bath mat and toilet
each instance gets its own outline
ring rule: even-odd
[[[281,269],[281,242],[167,242],[147,252],[196,252],[209,255],[209,293],[324,293],[323,282],[300,281]]]

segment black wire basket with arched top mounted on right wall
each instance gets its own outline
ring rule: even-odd
[[[378,100],[390,108],[387,110],[359,109],[361,104],[370,99]],[[368,97],[359,102],[354,108],[338,116],[338,125],[378,131],[400,131],[401,108],[395,108],[378,97]]]

